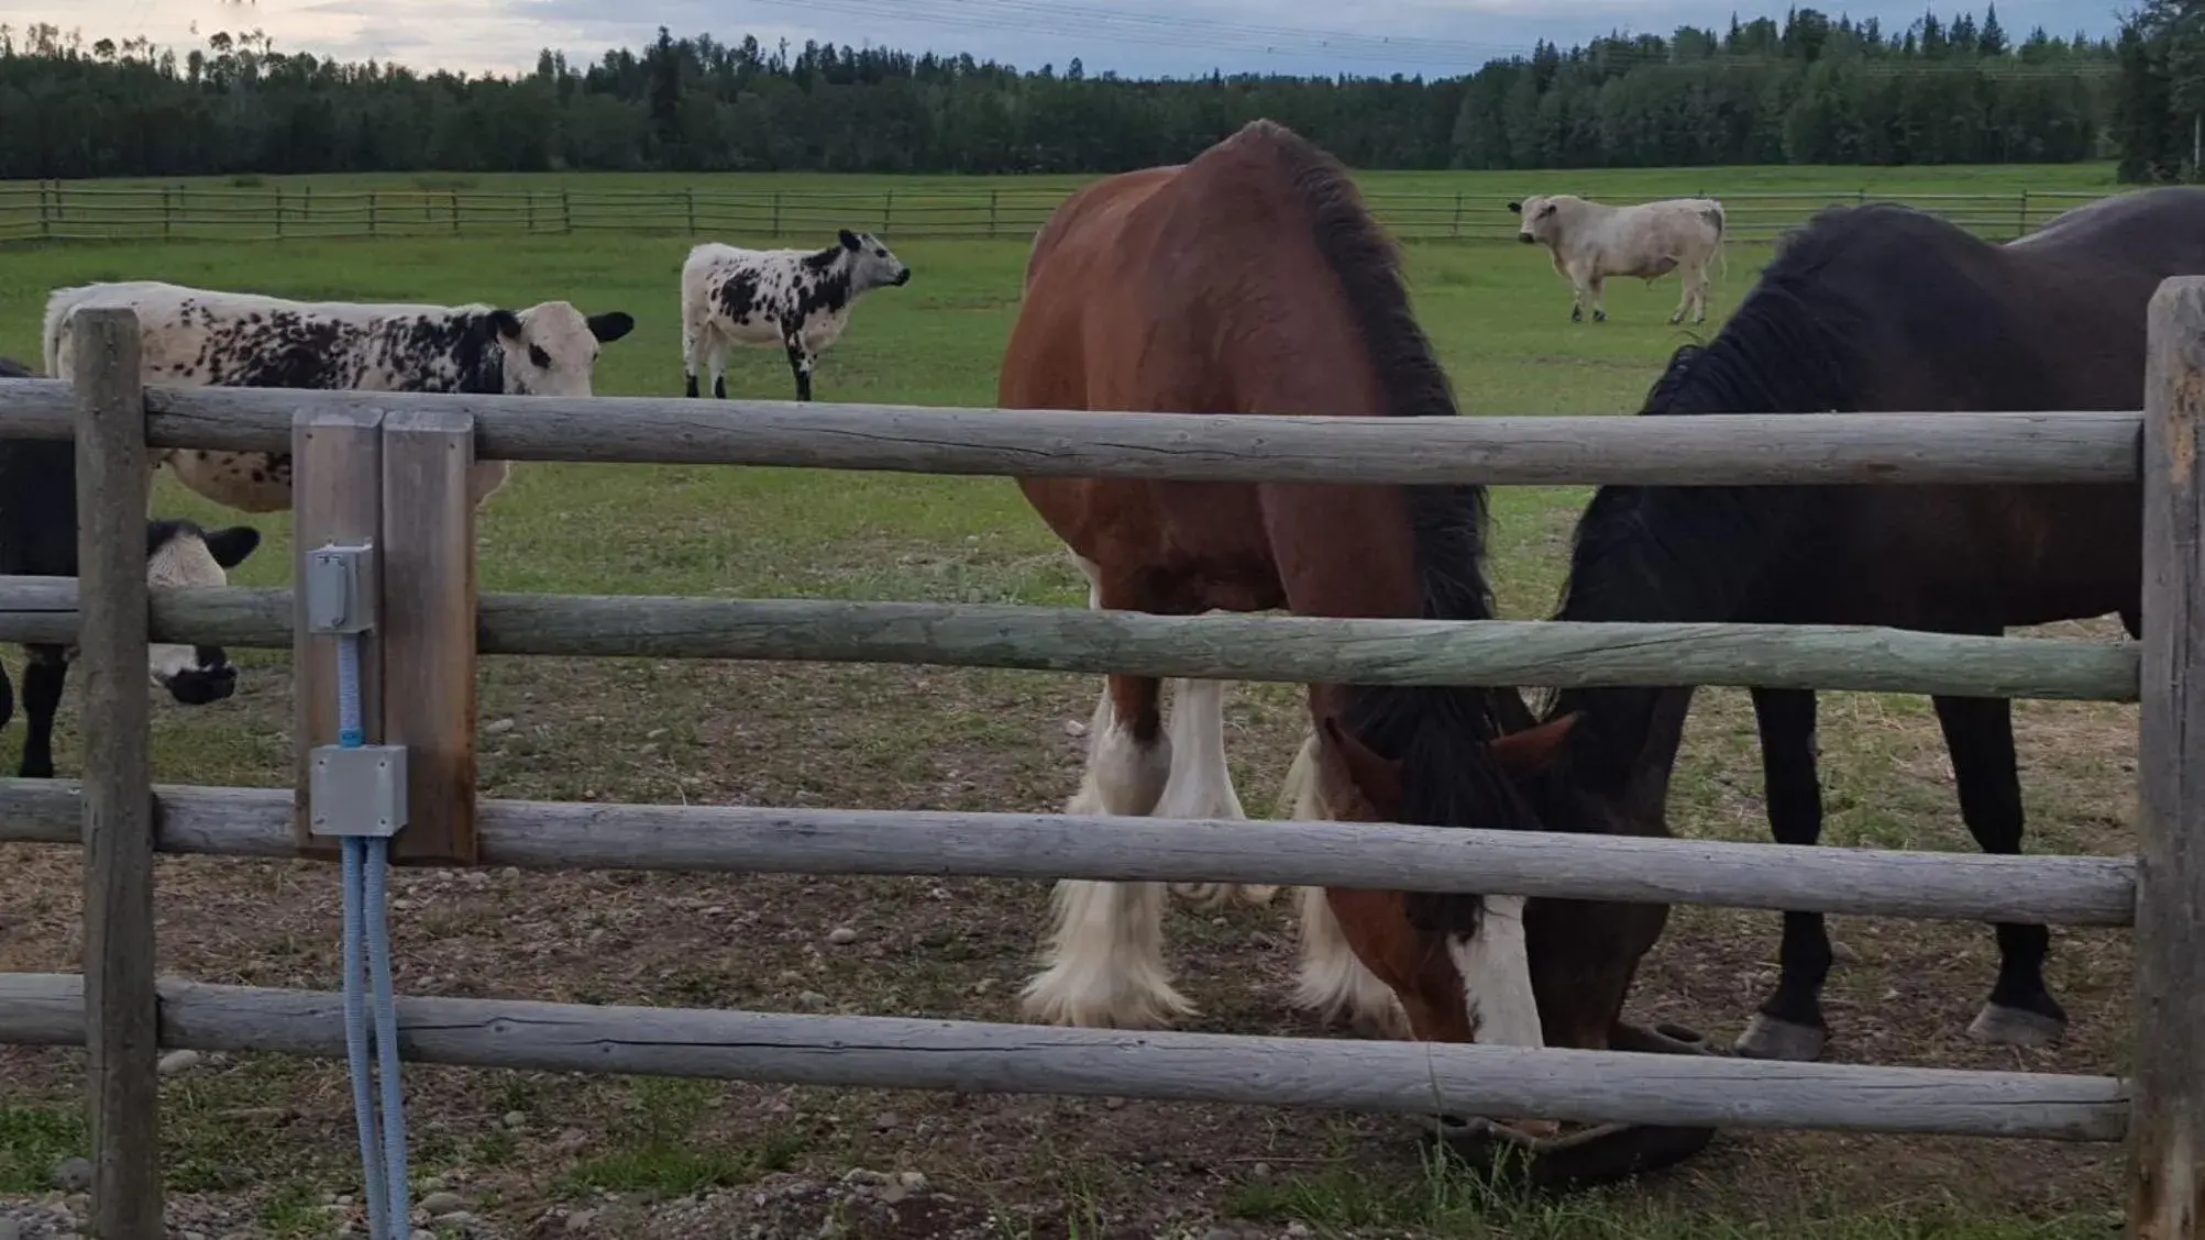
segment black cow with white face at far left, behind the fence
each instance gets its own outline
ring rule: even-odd
[[[31,372],[0,357],[0,381]],[[260,531],[232,526],[203,531],[192,522],[159,520],[146,526],[146,581],[152,586],[225,586],[229,570],[260,546]],[[66,440],[0,440],[0,573],[9,577],[77,575],[77,449]],[[22,740],[20,775],[53,777],[53,716],[75,652],[66,645],[26,645],[22,711],[31,731]],[[148,645],[152,683],[187,707],[218,703],[238,687],[238,672],[220,645]],[[15,687],[0,670],[0,727],[15,716]]]

